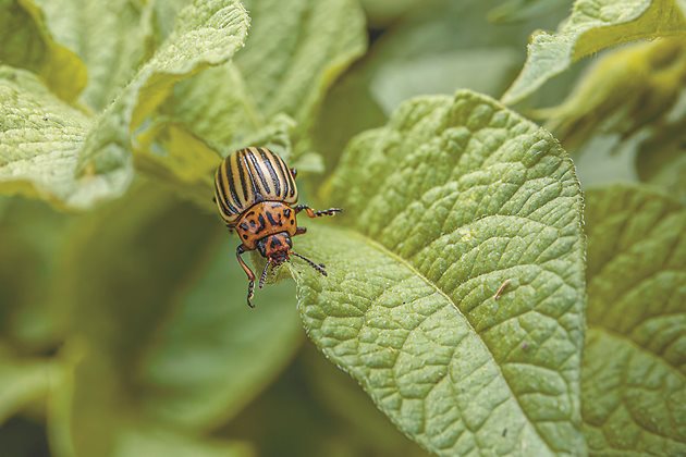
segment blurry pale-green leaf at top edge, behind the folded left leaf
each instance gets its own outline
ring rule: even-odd
[[[35,0],[56,39],[88,66],[81,95],[88,108],[107,107],[149,57],[151,7],[139,0]]]

